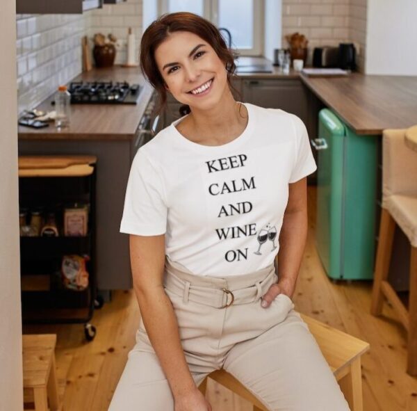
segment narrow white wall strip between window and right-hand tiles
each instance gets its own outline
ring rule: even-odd
[[[265,0],[264,55],[274,61],[274,49],[281,48],[281,1]]]

